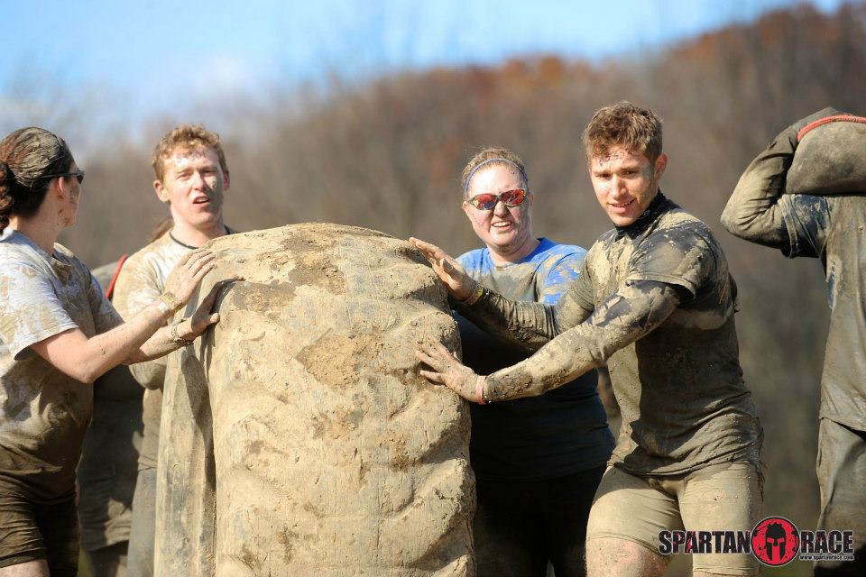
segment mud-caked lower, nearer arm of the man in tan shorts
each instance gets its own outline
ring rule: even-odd
[[[680,302],[677,289],[662,282],[639,280],[623,286],[584,323],[557,335],[526,361],[487,376],[484,397],[534,397],[575,380],[650,333]]]

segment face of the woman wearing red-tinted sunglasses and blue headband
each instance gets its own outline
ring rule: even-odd
[[[474,174],[469,183],[467,197],[492,193],[502,194],[506,190],[524,188],[521,173],[512,167],[492,164]],[[463,211],[469,217],[478,238],[491,251],[500,255],[511,254],[532,240],[532,195],[518,206],[505,206],[500,201],[493,210],[480,210],[464,201]]]

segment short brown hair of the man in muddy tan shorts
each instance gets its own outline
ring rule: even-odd
[[[586,158],[592,160],[613,146],[640,152],[655,162],[661,155],[661,119],[625,100],[599,108],[584,131]]]

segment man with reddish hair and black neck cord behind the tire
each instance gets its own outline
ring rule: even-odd
[[[226,156],[216,133],[202,126],[180,124],[157,144],[152,156],[157,196],[169,205],[173,226],[129,257],[117,277],[114,304],[125,317],[135,315],[154,295],[180,258],[207,241],[230,233],[223,224],[223,195],[229,187]],[[127,575],[153,574],[156,523],[157,453],[160,444],[162,384],[166,359],[132,365],[135,380],[145,387],[144,438],[133,499]]]

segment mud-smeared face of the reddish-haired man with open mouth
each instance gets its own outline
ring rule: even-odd
[[[164,177],[153,186],[162,202],[170,203],[175,221],[194,228],[221,223],[228,175],[219,166],[217,152],[210,148],[177,150],[162,161]]]

